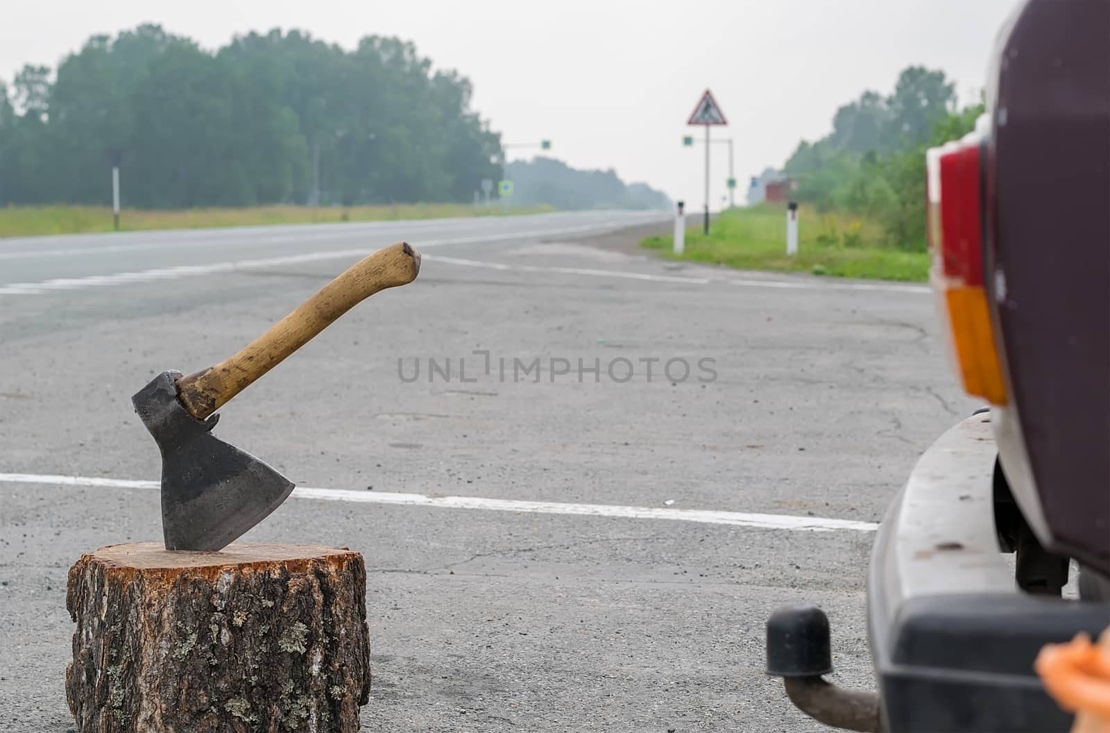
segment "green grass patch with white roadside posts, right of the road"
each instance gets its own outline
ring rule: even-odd
[[[686,251],[672,252],[670,237],[649,237],[643,245],[670,259],[727,264],[745,270],[811,272],[877,280],[928,279],[929,255],[884,247],[874,224],[841,214],[798,212],[798,253],[786,254],[786,212],[780,207],[754,207],[723,212],[708,237],[700,219],[686,225]]]

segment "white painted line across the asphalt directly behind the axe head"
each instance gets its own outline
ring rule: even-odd
[[[36,473],[0,473],[0,483],[47,484],[54,486],[89,486],[98,489],[158,489],[158,481],[128,479],[98,479],[94,476],[67,476]],[[427,496],[425,494],[391,493],[384,491],[351,491],[345,489],[314,489],[302,486],[293,490],[294,499],[345,501],[359,504],[400,504],[404,506],[432,506],[438,509],[468,509],[494,512],[522,512],[528,514],[563,514],[571,516],[608,516],[613,519],[664,520],[726,524],[765,530],[801,532],[874,532],[875,522],[796,516],[791,514],[756,514],[702,509],[664,509],[657,506],[619,506],[613,504],[574,504],[551,501],[522,501],[515,499],[487,499],[484,496]]]

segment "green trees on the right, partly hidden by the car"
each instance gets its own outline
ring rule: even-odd
[[[797,198],[880,224],[885,244],[926,249],[925,151],[975,128],[981,103],[958,108],[942,71],[909,67],[894,91],[865,91],[840,107],[833,131],[803,141],[784,165]]]

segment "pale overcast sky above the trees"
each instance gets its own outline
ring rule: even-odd
[[[299,28],[352,48],[366,34],[415,42],[474,82],[506,142],[553,141],[578,168],[615,168],[700,208],[700,148],[682,147],[709,88],[728,118],[741,184],[798,140],[830,129],[864,89],[888,92],[909,64],[942,69],[969,98],[1018,0],[37,0],[4,2],[0,78],[56,66],[93,33],[142,22],[214,49],[236,33]],[[713,148],[713,201],[726,145]],[[519,151],[514,157],[529,155]],[[743,189],[741,189],[743,191]]]

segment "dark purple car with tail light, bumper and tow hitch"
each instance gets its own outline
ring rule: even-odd
[[[931,281],[957,372],[989,406],[921,454],[880,524],[877,692],[823,679],[816,606],[768,620],[768,673],[826,724],[1071,726],[1033,660],[1110,624],[1108,28],[1106,0],[1020,3],[992,52],[987,114],[928,152]],[[1074,574],[1078,598],[1064,593]]]

